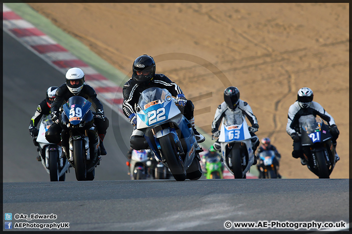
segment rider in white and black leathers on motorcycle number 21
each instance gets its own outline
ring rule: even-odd
[[[301,126],[304,118],[309,115],[314,117],[319,116],[329,124],[329,131],[331,134],[332,144],[336,148],[336,139],[340,134],[337,129],[333,117],[325,111],[325,109],[318,103],[313,101],[313,91],[308,87],[303,87],[297,92],[297,100],[289,107],[287,115],[286,132],[293,139],[292,157],[301,158],[301,164],[307,165],[307,160],[303,156],[303,149],[301,145]],[[335,161],[337,162],[340,157],[335,154]]]

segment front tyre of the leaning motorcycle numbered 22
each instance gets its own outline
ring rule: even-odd
[[[172,142],[169,135],[159,138],[162,155],[166,159],[172,175],[177,181],[183,181],[186,179],[186,174],[183,172],[183,162],[181,164],[182,159],[177,156],[175,144]]]

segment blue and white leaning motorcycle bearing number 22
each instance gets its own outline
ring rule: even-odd
[[[182,115],[170,92],[157,87],[144,90],[136,113],[136,129],[144,133],[149,147],[174,178],[178,181],[199,179],[202,150],[191,123]]]

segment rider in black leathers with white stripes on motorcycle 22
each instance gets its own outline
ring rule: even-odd
[[[184,117],[186,117],[191,125],[198,143],[203,142],[205,137],[198,133],[195,127],[194,105],[191,100],[187,100],[181,88],[171,81],[164,74],[155,74],[155,61],[153,57],[148,55],[139,56],[134,60],[132,65],[132,77],[125,83],[123,87],[123,104],[122,109],[126,117],[134,126],[132,136],[130,137],[131,147],[135,150],[148,148],[143,132],[136,129],[137,117],[135,104],[138,102],[140,93],[151,87],[167,89],[176,97],[178,108]]]

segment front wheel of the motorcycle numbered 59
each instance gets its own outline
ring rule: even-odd
[[[83,142],[82,140],[74,140],[73,144],[73,165],[75,169],[76,179],[78,181],[86,180],[87,170],[86,163],[83,158]]]

